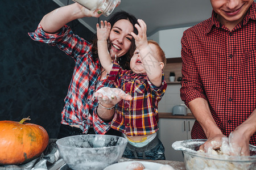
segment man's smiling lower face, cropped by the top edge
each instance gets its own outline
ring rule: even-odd
[[[253,0],[210,0],[213,10],[220,15],[221,23],[238,24],[244,18]]]

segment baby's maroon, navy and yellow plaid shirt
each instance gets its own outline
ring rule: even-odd
[[[111,128],[129,136],[146,135],[158,130],[158,102],[164,95],[167,83],[162,76],[162,85],[154,86],[147,74],[135,74],[131,70],[122,70],[114,62],[108,75],[115,87],[129,93],[133,99],[121,100],[115,109]]]

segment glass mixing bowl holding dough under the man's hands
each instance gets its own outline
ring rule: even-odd
[[[172,144],[175,150],[181,150],[184,155],[184,164],[187,170],[192,169],[230,169],[255,170],[256,146],[250,145],[250,156],[213,155],[198,152],[199,147],[207,139],[191,139],[176,141]]]

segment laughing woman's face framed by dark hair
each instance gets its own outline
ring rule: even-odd
[[[112,58],[123,56],[128,52],[133,39],[131,32],[133,32],[133,24],[129,20],[121,19],[114,23],[109,35],[109,51]]]

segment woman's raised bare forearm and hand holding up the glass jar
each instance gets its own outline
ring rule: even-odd
[[[78,3],[73,3],[72,5],[57,8],[44,15],[40,25],[45,32],[55,33],[63,27],[63,25],[71,22],[72,20],[91,16],[98,18],[100,15],[101,14],[98,14],[97,11],[93,12],[82,7]]]

